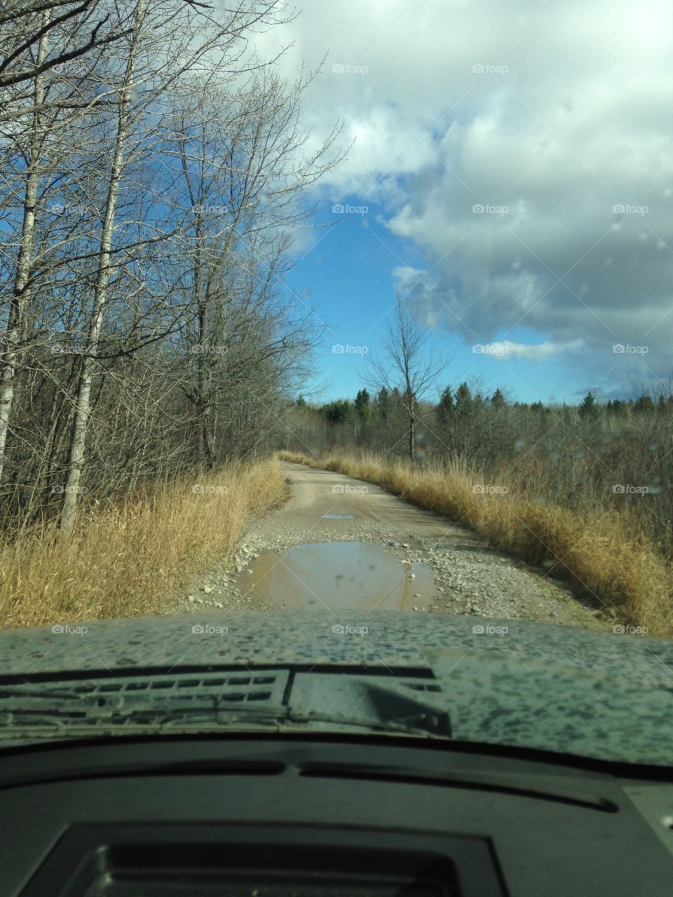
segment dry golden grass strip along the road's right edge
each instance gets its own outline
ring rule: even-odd
[[[546,567],[570,582],[576,594],[597,600],[615,621],[647,627],[651,635],[673,636],[669,563],[628,517],[614,509],[564,509],[534,501],[516,487],[506,493],[476,493],[475,485],[491,481],[479,479],[459,461],[448,469],[412,469],[406,461],[390,463],[364,453],[323,460],[288,452],[280,457],[377,483],[421,508],[460,521],[525,561]]]

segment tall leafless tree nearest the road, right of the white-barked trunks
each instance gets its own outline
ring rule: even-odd
[[[192,289],[186,334],[194,380],[186,395],[203,466],[215,462],[216,405],[246,383],[259,400],[269,382],[262,371],[267,375],[291,346],[298,362],[298,347],[311,344],[308,316],[290,332],[281,327],[288,320],[287,302],[278,300],[288,231],[312,211],[303,205],[308,187],[344,153],[330,152],[337,125],[302,158],[308,135],[298,121],[308,83],[285,83],[265,65],[248,83],[233,85],[233,94],[226,83],[198,85],[176,109]],[[261,414],[262,405],[255,405]]]

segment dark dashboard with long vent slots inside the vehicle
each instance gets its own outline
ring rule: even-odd
[[[406,738],[14,748],[0,819],[0,897],[673,893],[668,781]]]

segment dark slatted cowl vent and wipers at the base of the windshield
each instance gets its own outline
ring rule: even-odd
[[[378,680],[378,681],[375,681]],[[450,737],[448,713],[417,684],[345,668],[325,683],[289,669],[244,674],[150,675],[0,688],[0,741],[271,728]],[[322,685],[313,689],[314,684]],[[331,705],[331,706],[330,706]]]

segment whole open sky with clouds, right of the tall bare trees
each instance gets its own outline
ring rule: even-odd
[[[667,391],[669,4],[304,0],[297,13],[256,49],[287,48],[288,78],[318,72],[307,152],[337,120],[354,142],[314,190],[321,220],[367,207],[302,234],[285,278],[329,328],[317,397],[362,386],[362,354],[331,346],[380,353],[396,288],[452,359],[450,384],[528,402]]]

